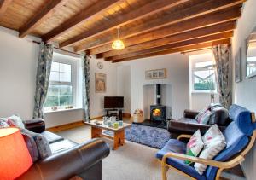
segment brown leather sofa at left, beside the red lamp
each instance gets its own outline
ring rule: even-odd
[[[51,156],[34,163],[18,179],[58,180],[80,177],[82,179],[102,179],[102,159],[107,157],[110,149],[100,139],[92,139],[78,144],[45,131],[43,119],[25,122],[26,129],[41,133],[49,141]]]

